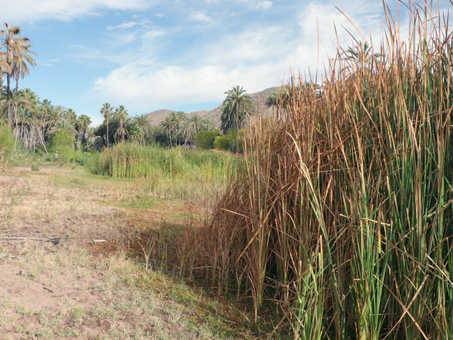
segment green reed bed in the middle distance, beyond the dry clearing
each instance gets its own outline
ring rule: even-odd
[[[119,143],[104,150],[90,171],[113,178],[144,179],[164,196],[200,198],[223,190],[236,166],[236,156],[229,153]]]

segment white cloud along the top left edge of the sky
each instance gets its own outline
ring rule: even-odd
[[[152,4],[147,0],[16,0],[2,1],[2,19],[8,22],[56,19],[72,20],[95,15],[103,9],[143,9]]]

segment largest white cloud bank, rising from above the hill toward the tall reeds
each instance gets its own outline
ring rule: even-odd
[[[380,9],[364,0],[359,2],[363,6],[339,1],[339,7],[362,33],[380,32]],[[270,1],[270,5],[265,3],[261,1],[258,6],[265,9],[272,5]],[[179,59],[151,58],[142,53],[133,62],[98,78],[95,94],[114,105],[122,103],[131,110],[146,112],[203,102],[220,103],[231,86],[243,86],[250,93],[259,91],[279,85],[280,80],[287,81],[290,70],[296,75],[310,70],[315,76],[319,67],[321,74],[327,57],[335,56],[334,23],[340,42],[347,42],[346,46],[352,38],[345,28],[351,32],[354,28],[332,4],[313,1],[298,11],[290,21],[271,25],[250,23],[239,32],[212,37],[207,45],[182,50]],[[195,14],[199,15],[198,20],[207,18],[204,12],[193,12],[191,19],[196,19]]]

